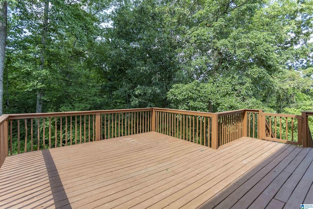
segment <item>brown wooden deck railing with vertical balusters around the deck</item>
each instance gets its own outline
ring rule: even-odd
[[[262,110],[204,113],[139,108],[0,116],[0,166],[8,155],[155,131],[217,149],[241,137],[312,147],[308,116]]]

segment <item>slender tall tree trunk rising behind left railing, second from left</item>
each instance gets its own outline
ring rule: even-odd
[[[45,48],[46,48],[47,27],[48,27],[48,11],[49,11],[49,0],[45,0],[43,30],[42,30],[42,37],[41,37],[41,43],[43,45],[43,48],[40,52],[40,67],[39,67],[40,72],[44,70],[44,66],[45,66]],[[39,81],[40,83],[44,82],[42,73],[39,73]],[[44,97],[44,91],[42,88],[39,88],[37,90],[36,113],[41,113],[43,110],[43,97]]]

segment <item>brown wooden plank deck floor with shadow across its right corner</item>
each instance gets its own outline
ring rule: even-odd
[[[149,132],[7,157],[0,208],[295,209],[313,204],[312,183],[312,148]]]

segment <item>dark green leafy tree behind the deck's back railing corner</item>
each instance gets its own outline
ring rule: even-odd
[[[166,93],[178,70],[175,35],[165,10],[152,0],[126,3],[107,29],[103,85],[108,108],[166,107]]]

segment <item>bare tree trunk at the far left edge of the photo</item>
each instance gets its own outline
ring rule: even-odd
[[[0,2],[0,116],[3,101],[3,70],[6,47],[7,1]]]

